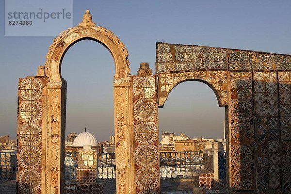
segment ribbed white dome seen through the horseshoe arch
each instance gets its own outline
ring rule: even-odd
[[[98,146],[96,137],[89,132],[82,132],[75,138],[73,147],[83,147],[84,145],[91,145],[93,147]]]

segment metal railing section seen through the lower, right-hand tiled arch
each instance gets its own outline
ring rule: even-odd
[[[193,168],[201,169],[201,151],[160,152],[160,173],[162,179],[192,178]]]

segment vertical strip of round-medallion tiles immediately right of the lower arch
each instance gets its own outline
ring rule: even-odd
[[[249,72],[230,72],[230,168],[234,190],[254,190],[253,92]]]

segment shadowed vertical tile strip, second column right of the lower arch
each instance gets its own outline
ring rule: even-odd
[[[280,188],[278,87],[275,71],[253,72],[258,189]],[[264,160],[265,162],[261,162]]]

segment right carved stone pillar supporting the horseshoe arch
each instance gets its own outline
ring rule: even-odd
[[[116,193],[135,194],[132,82],[113,83]]]

